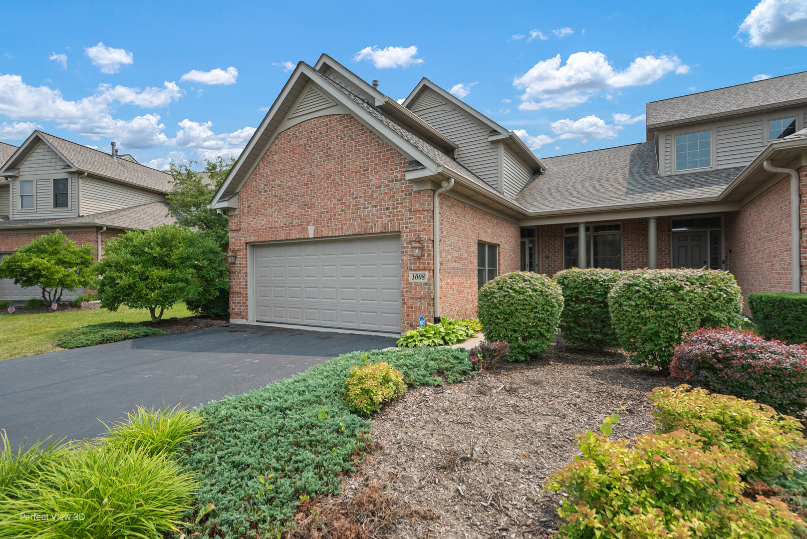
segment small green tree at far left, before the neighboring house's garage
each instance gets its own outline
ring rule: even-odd
[[[77,247],[61,230],[37,236],[16,253],[0,262],[0,278],[14,279],[15,285],[39,286],[42,299],[60,301],[65,290],[75,292],[94,280],[93,245]]]

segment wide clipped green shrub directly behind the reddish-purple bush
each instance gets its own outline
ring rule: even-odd
[[[623,272],[608,306],[631,362],[667,371],[684,332],[738,324],[742,296],[725,271],[639,269]]]

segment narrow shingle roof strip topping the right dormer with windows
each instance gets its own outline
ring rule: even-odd
[[[796,99],[807,101],[807,71],[647,103],[647,126]]]

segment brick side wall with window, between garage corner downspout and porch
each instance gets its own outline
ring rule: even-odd
[[[499,274],[521,269],[521,227],[447,194],[440,198],[440,311],[476,316],[479,242],[499,245]]]

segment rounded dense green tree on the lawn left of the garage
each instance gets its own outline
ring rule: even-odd
[[[164,224],[107,241],[96,271],[101,307],[148,309],[152,321],[187,298],[215,297],[227,286],[220,246],[190,228]],[[157,314],[159,309],[159,314]]]

